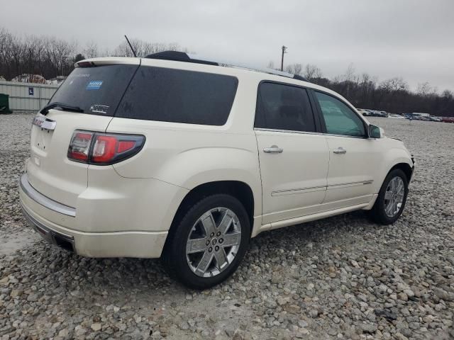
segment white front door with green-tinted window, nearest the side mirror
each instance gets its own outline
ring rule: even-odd
[[[330,155],[323,203],[331,203],[329,208],[336,209],[369,202],[381,160],[377,143],[367,138],[367,125],[341,99],[321,91],[314,91],[314,97]]]

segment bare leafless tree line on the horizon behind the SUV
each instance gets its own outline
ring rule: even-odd
[[[165,50],[187,52],[177,43],[132,39],[131,45],[139,57]],[[74,68],[74,62],[109,55],[132,57],[133,53],[126,41],[114,50],[100,50],[95,42],[80,46],[77,42],[48,36],[13,35],[5,28],[0,28],[0,79],[11,80],[22,74],[40,74],[45,79],[67,76]],[[268,67],[275,68],[272,62]],[[350,64],[345,74],[333,79],[323,77],[321,69],[314,64],[289,64],[285,70],[338,92],[357,108],[454,116],[453,92],[445,90],[440,94],[427,82],[419,84],[416,91],[410,91],[402,77],[378,81],[377,77],[367,73],[356,74],[353,64]]]

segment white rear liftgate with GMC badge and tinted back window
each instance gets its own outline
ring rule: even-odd
[[[50,103],[77,106],[82,112],[55,108],[33,120],[28,181],[44,196],[76,206],[77,196],[87,188],[88,165],[67,159],[72,133],[106,130],[138,67],[139,60],[131,62],[77,67]]]

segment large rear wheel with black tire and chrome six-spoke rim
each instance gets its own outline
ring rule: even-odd
[[[233,196],[215,194],[201,198],[174,223],[162,257],[170,276],[189,288],[210,288],[226,280],[248,249],[248,213]],[[225,233],[221,232],[226,225]]]

